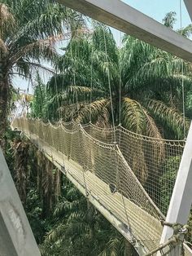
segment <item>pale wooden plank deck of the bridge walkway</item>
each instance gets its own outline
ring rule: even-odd
[[[158,219],[120,193],[112,194],[107,183],[90,171],[83,172],[79,164],[68,160],[63,153],[50,147],[36,135],[30,135],[29,139],[67,175],[84,196],[88,196],[101,214],[134,245],[139,255],[144,255],[159,245],[163,227]]]

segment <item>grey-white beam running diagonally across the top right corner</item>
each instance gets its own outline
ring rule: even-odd
[[[120,0],[57,0],[115,29],[192,62],[192,42]],[[190,0],[188,0],[190,2]]]

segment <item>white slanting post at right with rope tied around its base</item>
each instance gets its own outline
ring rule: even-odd
[[[167,223],[185,224],[188,221],[192,203],[192,123],[186,139],[184,152],[181,158],[180,167],[177,173],[176,183],[172,192],[172,198],[166,218]],[[172,227],[164,226],[160,244],[168,241],[173,234]],[[171,253],[180,256],[179,248]]]

